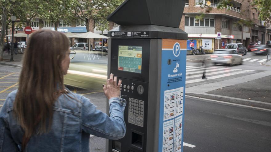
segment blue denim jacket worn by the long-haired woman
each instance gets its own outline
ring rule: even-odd
[[[0,152],[17,152],[22,144],[24,131],[13,115],[16,93],[17,90],[8,95],[0,111]],[[78,101],[60,95],[53,107],[51,130],[32,135],[24,152],[89,152],[90,134],[111,140],[124,137],[125,99],[109,100],[109,117],[86,97],[71,92],[68,95]]]

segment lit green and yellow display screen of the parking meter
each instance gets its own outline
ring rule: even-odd
[[[118,70],[141,73],[142,46],[119,45]]]

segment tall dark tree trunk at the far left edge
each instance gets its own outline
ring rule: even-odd
[[[1,36],[0,36],[0,61],[3,60],[3,49],[4,49],[4,37],[6,32],[6,17],[7,17],[8,10],[3,8],[2,13],[2,27],[1,27]]]

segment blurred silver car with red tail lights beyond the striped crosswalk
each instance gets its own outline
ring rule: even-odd
[[[211,55],[213,64],[243,64],[243,57],[238,54],[236,49],[216,49]]]

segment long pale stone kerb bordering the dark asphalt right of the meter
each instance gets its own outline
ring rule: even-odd
[[[213,94],[208,94],[208,93],[199,94],[199,93],[186,92],[185,95],[190,95],[190,96],[195,96],[195,97],[205,98],[205,99],[219,100],[219,101],[224,101],[224,102],[229,102],[229,103],[237,103],[237,104],[242,104],[242,105],[251,106],[251,107],[271,109],[271,103],[256,101],[256,100],[234,98],[234,97],[228,97],[228,96],[223,96],[223,95],[213,95]]]

